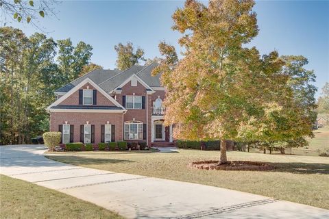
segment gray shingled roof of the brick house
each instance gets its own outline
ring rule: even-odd
[[[149,66],[132,66],[131,68],[128,68],[127,70],[123,71],[96,69],[76,79],[75,81],[66,84],[62,88],[56,90],[56,92],[68,92],[87,77],[97,83],[97,85],[100,86],[106,92],[110,92],[134,74],[136,74],[143,81],[145,81],[148,86],[161,87],[160,75],[156,75],[154,77],[151,76],[151,70],[157,65],[158,64],[153,63]]]

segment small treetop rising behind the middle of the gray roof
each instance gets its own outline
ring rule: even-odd
[[[117,51],[117,68],[119,70],[125,70],[130,68],[134,64],[138,64],[140,60],[145,61],[143,57],[144,51],[141,48],[136,49],[134,52],[134,46],[132,42],[127,42],[126,45],[121,42],[114,46],[115,51]]]

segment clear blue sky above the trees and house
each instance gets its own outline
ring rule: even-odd
[[[180,51],[180,34],[171,30],[171,14],[183,1],[62,1],[58,18],[40,19],[40,27],[55,40],[71,38],[93,46],[91,61],[114,68],[114,45],[131,41],[145,57],[159,56],[158,43],[165,40]],[[315,70],[319,88],[329,81],[329,1],[256,1],[258,36],[250,43],[260,53],[277,50],[280,55],[304,55],[308,69]],[[8,23],[27,36],[39,31],[31,25]]]

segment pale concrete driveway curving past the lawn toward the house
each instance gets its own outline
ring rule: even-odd
[[[62,164],[43,146],[0,146],[0,173],[58,190],[127,218],[329,218],[308,205],[208,185]]]

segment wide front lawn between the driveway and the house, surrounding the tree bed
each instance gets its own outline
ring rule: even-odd
[[[88,157],[49,156],[50,159],[116,172],[187,181],[240,190],[329,209],[329,159],[301,155],[228,152],[230,160],[271,162],[270,171],[197,170],[189,162],[219,159],[219,151],[180,150],[178,153],[110,154]]]

